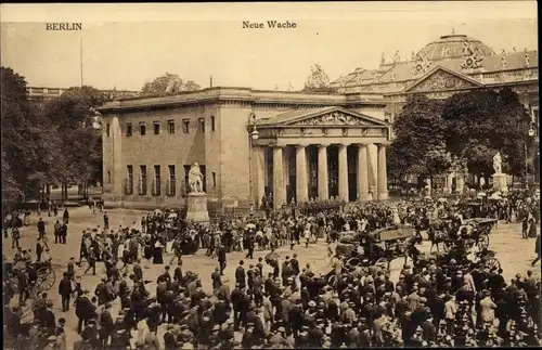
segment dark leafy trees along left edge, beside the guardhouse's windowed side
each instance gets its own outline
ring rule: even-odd
[[[46,183],[100,179],[102,139],[93,121],[105,96],[82,87],[35,103],[24,77],[1,67],[1,79],[2,199],[35,196]]]

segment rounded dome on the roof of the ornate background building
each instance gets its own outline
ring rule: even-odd
[[[440,39],[429,42],[417,54],[429,61],[462,57],[465,55],[465,46],[470,47],[475,53],[482,56],[495,54],[490,47],[480,40],[456,34],[442,36]]]

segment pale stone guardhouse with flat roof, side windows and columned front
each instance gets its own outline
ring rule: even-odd
[[[233,199],[240,206],[248,203],[259,206],[263,194],[276,193],[274,203],[280,206],[288,199],[282,192],[286,187],[281,185],[291,181],[287,172],[291,160],[284,155],[273,156],[278,151],[272,150],[282,146],[286,155],[289,154],[286,150],[301,143],[313,147],[350,145],[350,148],[366,144],[372,154],[367,161],[373,161],[370,169],[375,173],[366,182],[377,186],[376,145],[389,141],[389,125],[382,120],[384,107],[382,98],[374,95],[347,99],[340,94],[237,88],[114,101],[100,111],[105,129],[104,194],[106,200],[119,206],[185,207],[185,171],[198,163],[204,167],[209,202],[220,205]],[[367,114],[360,114],[364,109]],[[292,114],[297,117],[287,118]],[[255,116],[260,134],[254,144],[247,131],[250,115]],[[281,159],[280,165],[273,163],[273,157]],[[298,157],[302,158],[301,153]],[[343,160],[339,163],[344,164]],[[274,177],[269,171],[273,164]],[[279,180],[280,166],[283,173]],[[299,163],[299,167],[304,166],[305,170],[298,170],[299,177],[295,178],[299,181],[304,181],[302,173],[308,171],[310,163]],[[339,186],[340,197],[347,200],[354,195],[354,190],[350,194],[346,189],[352,181],[343,179]],[[380,198],[387,193],[385,182],[386,179],[380,179]],[[302,192],[298,200],[308,200]]]

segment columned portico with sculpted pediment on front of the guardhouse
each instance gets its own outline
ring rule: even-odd
[[[288,204],[288,185],[291,194],[295,189],[293,199],[298,204],[312,199],[309,185],[318,187],[311,196],[318,195],[319,200],[328,199],[332,190],[337,199],[346,203],[354,198],[370,200],[371,191],[374,199],[386,199],[389,125],[341,107],[315,111],[322,112],[293,111],[257,121],[260,135],[257,145],[273,150],[272,160],[267,160],[273,171],[262,171],[264,177],[273,179],[258,179],[257,183],[273,184],[273,207]],[[350,144],[357,148],[349,147]],[[288,154],[294,148],[295,157],[292,154],[291,158]],[[373,158],[371,150],[375,151]],[[260,176],[258,171],[255,173]]]

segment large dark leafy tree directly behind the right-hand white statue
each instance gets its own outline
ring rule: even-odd
[[[517,93],[504,88],[454,94],[444,102],[442,119],[447,148],[465,159],[469,172],[493,173],[492,158],[501,152],[504,171],[524,173],[530,116]]]

